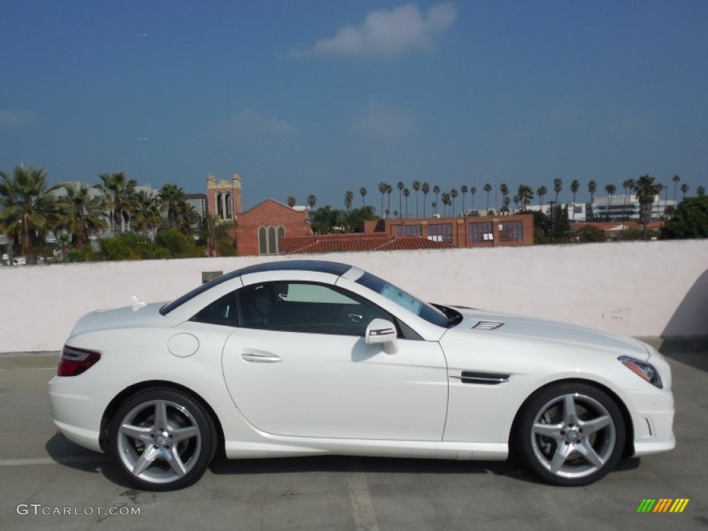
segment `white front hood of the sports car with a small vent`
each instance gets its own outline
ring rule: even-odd
[[[455,331],[463,333],[563,343],[573,348],[615,351],[618,355],[630,355],[639,360],[648,360],[650,357],[644,343],[625,336],[532,317],[459,307],[456,309],[464,319],[455,326]]]

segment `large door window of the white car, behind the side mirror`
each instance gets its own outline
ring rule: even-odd
[[[394,321],[358,295],[315,282],[264,282],[237,294],[247,328],[363,336],[372,319]]]

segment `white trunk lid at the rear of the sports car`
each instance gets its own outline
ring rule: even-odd
[[[79,318],[74,325],[71,336],[96,330],[122,328],[164,328],[178,323],[174,319],[160,314],[164,302],[152,304],[140,303],[139,306],[128,306],[116,309],[100,309]]]

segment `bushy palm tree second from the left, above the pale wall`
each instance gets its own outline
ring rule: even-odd
[[[72,184],[60,185],[66,194],[59,198],[62,210],[61,228],[70,234],[74,247],[89,245],[90,237],[108,228],[105,221],[105,200],[103,196],[91,198],[89,187]]]

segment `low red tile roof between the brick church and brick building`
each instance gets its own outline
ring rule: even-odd
[[[328,253],[335,251],[413,251],[416,249],[449,249],[452,244],[421,236],[389,236],[382,233],[314,234],[285,236],[280,239],[283,254]]]

